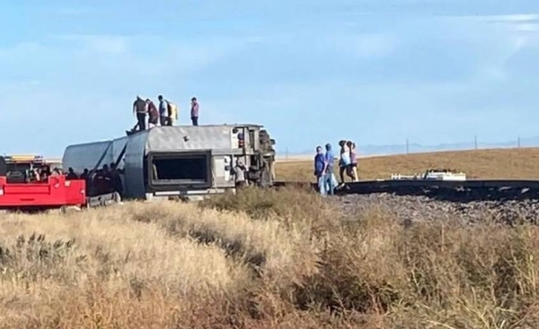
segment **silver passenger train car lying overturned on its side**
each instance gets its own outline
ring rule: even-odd
[[[66,148],[64,169],[80,175],[115,163],[125,199],[197,196],[234,190],[232,169],[242,160],[260,186],[274,179],[274,141],[257,125],[157,126],[111,141]]]

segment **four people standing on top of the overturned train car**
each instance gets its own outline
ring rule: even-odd
[[[157,97],[159,106],[146,99],[143,100],[137,96],[137,100],[133,102],[133,114],[137,116],[137,125],[133,127],[132,132],[138,130],[146,130],[146,116],[148,117],[147,127],[153,126],[173,126],[178,120],[178,107],[170,100],[164,100],[163,95]],[[193,126],[199,126],[199,102],[196,97],[191,99],[190,118]]]

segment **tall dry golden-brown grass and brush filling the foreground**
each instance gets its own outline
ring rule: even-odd
[[[535,328],[539,230],[342,214],[301,191],[0,226],[5,328]]]

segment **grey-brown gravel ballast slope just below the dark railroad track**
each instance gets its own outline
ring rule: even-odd
[[[389,194],[338,196],[344,212],[351,216],[380,210],[400,221],[460,221],[479,223],[494,221],[504,224],[522,222],[539,223],[539,200],[483,201],[452,203],[436,201],[426,196],[402,196]]]

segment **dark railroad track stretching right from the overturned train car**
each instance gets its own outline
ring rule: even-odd
[[[314,183],[276,182],[278,187],[296,186],[316,190]],[[337,188],[337,195],[425,195],[451,202],[504,201],[539,199],[539,180],[473,179],[443,181],[434,179],[370,180],[346,183]]]

